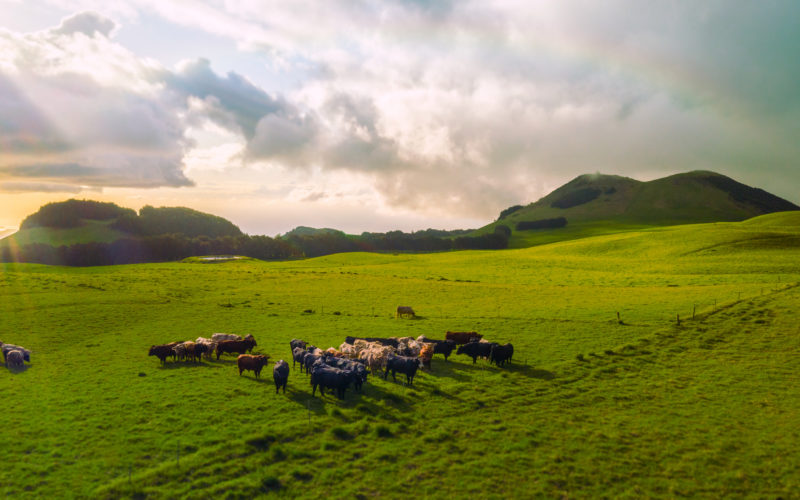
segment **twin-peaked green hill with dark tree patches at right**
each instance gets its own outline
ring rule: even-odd
[[[714,172],[688,172],[649,182],[587,174],[535,203],[504,210],[479,232],[505,225],[513,231],[510,246],[527,247],[654,226],[742,221],[790,210],[800,207]],[[561,228],[520,229],[560,218],[566,219]]]

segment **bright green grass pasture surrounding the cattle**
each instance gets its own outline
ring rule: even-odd
[[[791,213],[495,252],[4,265],[0,340],[33,362],[0,371],[0,492],[789,498],[798,257]],[[284,396],[233,357],[147,356],[213,332],[288,360],[295,337],[446,330],[512,342],[512,366],[437,356],[413,388],[370,377],[341,402],[299,371]]]

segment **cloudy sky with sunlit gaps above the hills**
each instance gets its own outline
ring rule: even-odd
[[[800,203],[798,54],[794,0],[0,0],[0,231],[478,227],[598,171]]]

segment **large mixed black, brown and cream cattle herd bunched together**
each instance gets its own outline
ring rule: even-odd
[[[256,378],[261,376],[261,370],[269,362],[269,356],[252,353],[256,347],[256,340],[252,335],[244,338],[225,333],[215,333],[211,338],[198,337],[195,341],[172,342],[150,347],[149,356],[156,356],[165,364],[167,358],[173,361],[201,362],[203,358],[212,359],[216,354],[219,360],[223,354],[238,354],[236,364],[239,375],[244,371],[252,371]],[[444,340],[429,339],[424,335],[414,339],[412,337],[346,337],[338,349],[330,347],[326,350],[319,349],[308,342],[294,339],[289,343],[292,349],[292,366],[300,364],[300,372],[310,376],[311,395],[316,395],[317,387],[321,395],[325,389],[335,391],[343,399],[345,391],[352,385],[356,392],[361,392],[367,375],[383,373],[383,379],[392,374],[392,379],[397,381],[396,374],[406,376],[409,386],[414,383],[417,370],[431,369],[431,360],[435,354],[447,358],[456,351],[472,358],[474,364],[478,358],[485,358],[489,363],[503,366],[510,362],[514,355],[514,346],[511,344],[498,344],[488,342],[476,332],[447,332]],[[16,346],[14,346],[16,347]],[[3,354],[6,354],[3,348]],[[272,377],[275,381],[275,392],[280,389],[286,393],[286,384],[289,379],[289,364],[284,360],[275,363]]]

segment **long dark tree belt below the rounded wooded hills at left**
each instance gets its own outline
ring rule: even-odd
[[[269,236],[187,238],[178,234],[123,238],[112,243],[76,243],[54,247],[33,243],[0,247],[1,262],[34,262],[63,266],[104,266],[165,262],[200,255],[244,255],[256,259],[291,259],[302,255],[288,242]]]

